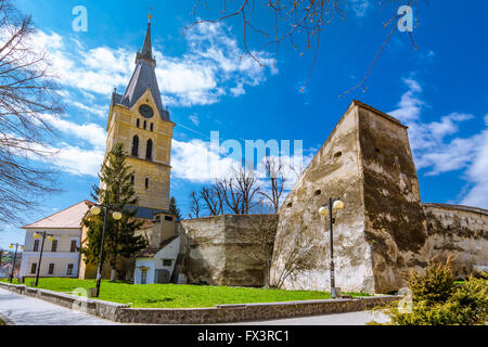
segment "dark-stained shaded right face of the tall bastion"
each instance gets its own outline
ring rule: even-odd
[[[364,182],[364,234],[372,249],[374,290],[396,291],[404,271],[421,269],[427,239],[419,180],[407,127],[358,103],[361,171]]]

